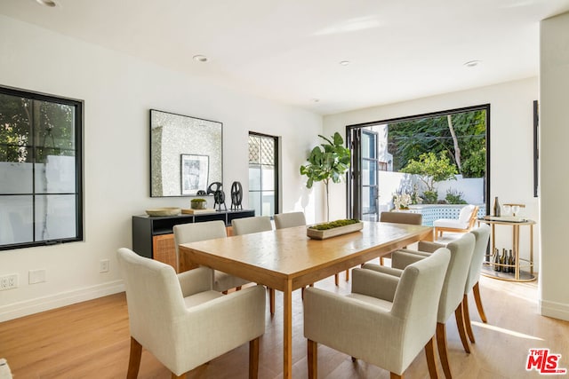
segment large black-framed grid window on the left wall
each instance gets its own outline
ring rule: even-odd
[[[0,87],[0,249],[83,241],[83,102]]]

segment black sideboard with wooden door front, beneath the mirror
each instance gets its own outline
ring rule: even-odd
[[[150,217],[132,216],[132,250],[142,257],[156,259],[176,269],[174,225],[221,220],[231,226],[234,218],[253,217],[254,209],[220,210],[196,215]]]

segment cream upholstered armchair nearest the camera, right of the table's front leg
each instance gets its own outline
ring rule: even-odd
[[[442,248],[408,265],[400,277],[354,269],[348,296],[307,288],[309,378],[317,378],[317,343],[385,368],[391,378],[403,377],[424,348],[429,375],[436,378],[437,306],[449,260],[449,250]]]

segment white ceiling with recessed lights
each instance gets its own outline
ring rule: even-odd
[[[569,11],[569,0],[54,1],[0,0],[0,13],[318,114],[538,75],[539,21]]]

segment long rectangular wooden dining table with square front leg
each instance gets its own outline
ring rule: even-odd
[[[228,272],[282,291],[283,377],[293,368],[293,290],[361,265],[416,241],[433,241],[433,228],[364,222],[364,228],[326,240],[307,237],[306,226],[180,245],[180,271],[197,265]]]

